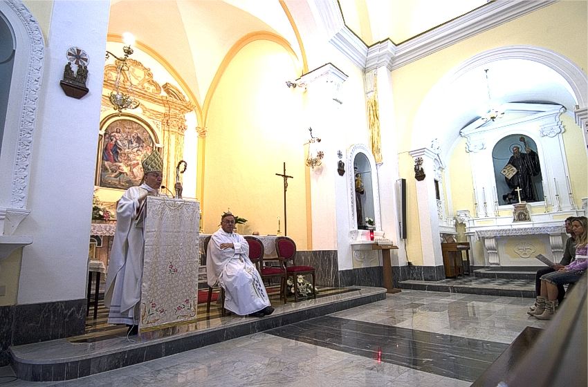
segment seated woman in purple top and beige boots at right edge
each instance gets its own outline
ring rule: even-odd
[[[540,295],[535,301],[537,307],[531,313],[537,319],[551,319],[558,306],[558,285],[578,282],[588,268],[588,219],[585,216],[574,218],[571,229],[576,238],[576,261],[541,277]]]

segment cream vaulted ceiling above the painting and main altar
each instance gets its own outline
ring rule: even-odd
[[[109,35],[131,32],[138,46],[163,57],[202,106],[230,48],[252,32],[284,37],[300,57],[278,1],[113,0]]]

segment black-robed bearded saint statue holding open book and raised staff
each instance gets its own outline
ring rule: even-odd
[[[522,202],[538,201],[533,187],[533,176],[538,176],[541,173],[539,155],[527,145],[524,137],[520,137],[519,140],[524,144],[526,153],[521,152],[519,145],[511,145],[513,155],[508,159],[508,164],[500,171],[504,175],[506,185],[511,189],[502,196],[508,204],[518,202],[517,188],[521,189]]]

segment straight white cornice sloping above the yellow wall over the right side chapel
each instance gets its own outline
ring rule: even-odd
[[[398,44],[392,70],[553,3],[555,1],[520,0],[487,3],[477,10]]]

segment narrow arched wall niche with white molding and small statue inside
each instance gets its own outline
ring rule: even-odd
[[[374,155],[364,144],[355,144],[347,152],[347,173],[349,187],[349,229],[381,229],[380,196],[378,191],[378,173]],[[366,218],[374,220],[374,227],[369,227]]]

